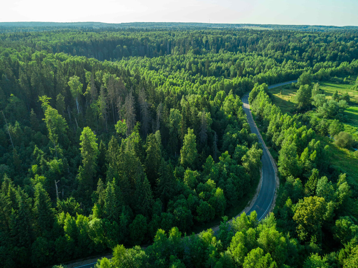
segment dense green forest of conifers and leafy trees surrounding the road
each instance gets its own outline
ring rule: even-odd
[[[325,101],[316,83],[358,74],[356,29],[11,27],[0,34],[4,267],[108,252],[97,268],[357,267],[358,183],[329,164],[305,116],[316,107],[344,132],[349,94]],[[295,79],[289,115],[268,85]],[[249,91],[280,187],[265,219],[227,223],[260,180]]]

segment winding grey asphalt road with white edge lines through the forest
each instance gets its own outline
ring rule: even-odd
[[[292,84],[297,82],[297,80],[287,81],[284,83],[279,83],[275,85],[270,85],[269,89],[276,88],[278,86]],[[274,200],[275,190],[276,190],[276,177],[275,177],[275,168],[274,164],[271,161],[269,156],[269,150],[267,149],[265,143],[263,142],[260,132],[257,129],[255,121],[253,121],[252,114],[250,111],[250,105],[248,104],[248,94],[245,94],[242,97],[243,109],[247,116],[247,121],[250,125],[251,132],[255,133],[258,137],[259,142],[262,146],[262,184],[260,188],[260,192],[255,203],[252,205],[251,209],[246,213],[250,214],[253,210],[256,210],[258,220],[265,218],[267,213],[271,208],[272,201]],[[89,263],[81,266],[77,266],[74,268],[91,268],[94,267],[95,263]]]

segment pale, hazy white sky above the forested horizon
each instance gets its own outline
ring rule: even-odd
[[[358,26],[358,0],[5,0],[0,22],[96,21]]]

